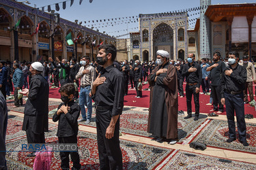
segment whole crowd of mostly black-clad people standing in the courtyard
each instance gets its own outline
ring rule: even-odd
[[[150,108],[147,131],[158,142],[168,141],[175,144],[178,140],[177,117],[184,115],[184,112],[178,112],[178,96],[185,97],[185,81],[187,116],[184,119],[192,118],[193,97],[194,120],[199,120],[199,92],[202,88],[202,94],[210,95],[214,107],[208,116],[218,116],[224,111],[223,105],[226,105],[229,124],[227,142],[236,139],[236,112],[239,140],[244,146],[248,146],[244,103],[248,103],[247,89],[250,101],[254,101],[253,82],[256,83],[255,67],[248,61],[248,56],[243,56],[240,60],[238,52],[229,52],[227,58],[221,58],[221,54],[215,52],[212,61],[208,58],[195,61],[195,54],[188,54],[186,61],[174,61],[170,59],[169,52],[158,50],[156,61],[117,62],[115,58],[115,46],[102,45],[99,47],[97,61],[94,62],[90,61],[89,56],[83,56],[80,62],[76,58],[60,61],[59,58],[54,60],[51,57],[43,64],[0,61],[2,98],[9,97],[14,90],[14,105],[20,107],[23,105],[23,98],[19,94],[28,97],[23,122],[28,143],[45,143],[44,132],[48,131],[49,86],[61,86],[59,92],[63,103],[53,116],[54,122],[59,121],[59,143],[77,143],[78,122],[91,122],[93,99],[96,105],[100,169],[122,169],[119,116],[124,107],[124,96],[128,95],[128,84],[130,88],[136,89],[136,97],[141,98],[143,82],[148,82]],[[74,103],[76,99],[79,99],[79,105]],[[80,112],[82,118],[78,120]],[[62,169],[69,167],[68,154],[60,154]],[[28,156],[35,154],[32,152]],[[80,169],[78,152],[72,153],[71,158],[74,168]]]

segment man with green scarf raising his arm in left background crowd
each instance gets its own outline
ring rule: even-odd
[[[59,82],[61,83],[61,86],[64,84],[67,84],[70,82],[70,65],[68,65],[68,60],[62,59],[62,61],[59,61],[59,58],[56,57],[57,62],[59,65],[56,65],[53,61],[53,58],[49,57],[49,61],[53,63],[53,66],[57,69],[61,69],[59,72]]]

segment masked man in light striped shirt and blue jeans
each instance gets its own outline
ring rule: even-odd
[[[79,122],[86,121],[85,124],[91,122],[91,113],[92,113],[92,100],[91,100],[91,87],[96,78],[96,70],[90,65],[89,56],[83,56],[81,63],[81,68],[76,74],[76,80],[81,78],[80,86],[80,95],[79,95],[79,105],[81,107],[82,119]],[[85,111],[85,105],[87,106],[87,117]]]

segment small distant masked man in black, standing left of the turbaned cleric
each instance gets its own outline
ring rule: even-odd
[[[134,63],[134,83],[135,83],[135,88],[137,92],[136,98],[141,98],[142,97],[142,91],[138,90],[138,84],[139,82],[142,82],[142,67],[141,67],[141,61],[137,60]]]

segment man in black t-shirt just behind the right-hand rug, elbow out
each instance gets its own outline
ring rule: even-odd
[[[210,112],[221,114],[224,109],[223,104],[221,104],[221,76],[226,65],[221,61],[221,53],[219,52],[214,52],[213,61],[214,64],[206,69],[206,71],[211,71],[211,92],[214,109],[211,109]]]

